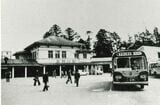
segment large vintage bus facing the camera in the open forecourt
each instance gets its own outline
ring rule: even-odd
[[[148,64],[144,52],[119,51],[112,56],[113,87],[116,85],[148,85]]]

